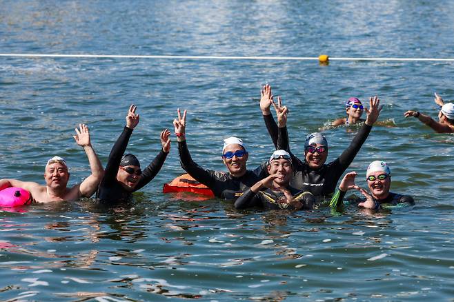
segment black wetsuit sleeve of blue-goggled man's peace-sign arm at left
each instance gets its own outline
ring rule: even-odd
[[[212,189],[216,183],[216,177],[210,170],[201,168],[197,165],[190,157],[188,145],[186,141],[178,142],[178,152],[181,163],[181,168],[183,168],[190,176],[194,177],[195,180],[199,183],[203,183],[208,188]],[[213,190],[213,189],[212,189]]]

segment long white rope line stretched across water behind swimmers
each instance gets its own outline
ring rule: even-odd
[[[1,54],[0,57],[28,58],[94,58],[94,59],[192,59],[192,60],[275,60],[275,61],[319,61],[319,57],[241,57],[241,56],[164,56],[164,55],[121,55],[121,54]],[[365,58],[330,57],[330,61],[454,61],[453,58]]]

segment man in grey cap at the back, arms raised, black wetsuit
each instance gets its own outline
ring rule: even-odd
[[[364,125],[359,128],[348,148],[330,163],[325,163],[328,157],[328,141],[326,141],[326,138],[320,133],[308,134],[304,142],[304,161],[289,152],[292,156],[294,169],[294,177],[290,181],[290,185],[297,190],[311,192],[319,201],[325,197],[330,197],[335,191],[337,181],[355,159],[357,152],[371,132],[373,124],[377,121],[379,112],[382,110],[379,107],[379,102],[377,97],[371,97],[369,100],[370,109],[367,112]],[[260,109],[264,115],[266,128],[277,149],[288,151],[290,150],[286,128],[288,110],[286,106],[282,106],[280,100],[277,105],[275,104],[278,126],[270,112],[270,105],[273,103],[270,85],[266,85],[261,91],[260,100]]]

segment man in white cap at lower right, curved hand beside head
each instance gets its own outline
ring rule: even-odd
[[[347,173],[342,179],[339,190],[331,199],[330,206],[342,208],[345,194],[348,190],[359,190],[365,200],[358,203],[359,207],[379,210],[393,205],[414,205],[413,197],[389,192],[391,188],[391,169],[384,161],[373,161],[367,168],[366,181],[369,192],[355,184],[356,172]]]

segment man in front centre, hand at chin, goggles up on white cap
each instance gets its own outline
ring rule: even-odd
[[[276,150],[268,161],[265,179],[258,181],[235,201],[235,208],[261,207],[266,210],[312,210],[314,196],[290,186],[293,166],[290,154]]]

